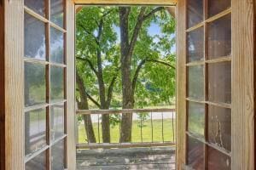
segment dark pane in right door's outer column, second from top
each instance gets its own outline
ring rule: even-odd
[[[216,59],[231,55],[231,14],[208,25],[208,56]]]

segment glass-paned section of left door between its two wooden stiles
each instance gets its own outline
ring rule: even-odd
[[[64,0],[25,0],[25,169],[67,167]]]

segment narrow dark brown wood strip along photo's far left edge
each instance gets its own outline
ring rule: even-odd
[[[5,106],[4,106],[4,8],[0,1],[0,169],[5,167]]]

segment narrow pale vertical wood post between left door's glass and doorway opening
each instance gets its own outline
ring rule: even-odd
[[[74,64],[74,3],[67,5],[67,169],[76,169],[75,143],[75,64]]]

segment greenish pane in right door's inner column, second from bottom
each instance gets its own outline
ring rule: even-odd
[[[189,132],[204,136],[205,105],[189,102]]]

